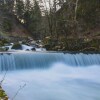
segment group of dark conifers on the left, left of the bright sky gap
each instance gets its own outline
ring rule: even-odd
[[[0,9],[7,19],[3,22],[5,30],[11,29],[10,26],[15,18],[34,37],[40,37],[42,14],[37,0],[0,0]],[[12,20],[8,23],[9,19]]]

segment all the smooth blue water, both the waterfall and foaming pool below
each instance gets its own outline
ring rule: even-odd
[[[3,53],[0,72],[11,100],[100,100],[100,54]]]

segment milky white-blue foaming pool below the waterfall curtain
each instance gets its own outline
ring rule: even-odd
[[[70,67],[56,63],[44,70],[11,71],[2,86],[13,98],[24,84],[14,100],[100,100],[100,66]]]

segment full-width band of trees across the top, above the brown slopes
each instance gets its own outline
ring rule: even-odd
[[[79,35],[100,23],[100,0],[0,0],[0,7],[39,38]]]

